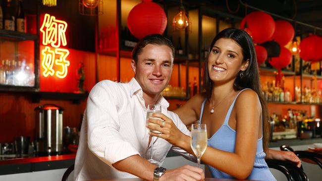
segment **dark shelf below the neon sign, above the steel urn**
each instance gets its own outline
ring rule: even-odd
[[[31,95],[33,103],[39,103],[40,99],[58,99],[71,100],[73,104],[79,104],[81,100],[88,97],[88,93],[72,93],[72,92],[34,92]]]

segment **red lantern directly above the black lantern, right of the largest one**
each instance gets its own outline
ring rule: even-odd
[[[272,39],[279,45],[284,46],[294,38],[294,28],[288,21],[276,20],[275,31]]]

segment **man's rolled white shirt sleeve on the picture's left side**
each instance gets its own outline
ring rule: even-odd
[[[113,163],[140,153],[119,134],[118,107],[126,94],[116,83],[102,81],[90,92],[86,105],[88,147],[111,168]],[[122,98],[124,96],[124,98]]]

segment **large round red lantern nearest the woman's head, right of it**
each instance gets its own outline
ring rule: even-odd
[[[245,23],[247,20],[247,27]],[[254,43],[262,44],[268,41],[274,34],[274,19],[262,11],[253,11],[244,17],[240,23],[240,28],[248,28],[252,32]]]

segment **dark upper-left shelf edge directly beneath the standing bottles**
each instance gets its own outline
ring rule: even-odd
[[[37,40],[38,36],[30,33],[21,33],[10,30],[0,30],[1,39],[9,39],[10,41]]]

